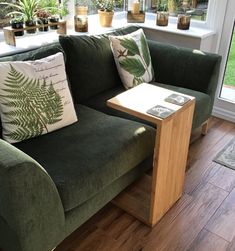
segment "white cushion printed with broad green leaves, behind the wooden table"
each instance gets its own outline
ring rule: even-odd
[[[109,36],[116,66],[126,89],[154,79],[148,44],[142,29],[124,36]]]

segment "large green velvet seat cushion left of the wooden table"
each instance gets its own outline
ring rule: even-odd
[[[76,111],[79,122],[15,144],[49,173],[65,211],[151,156],[155,139],[155,130],[147,125],[82,105]]]

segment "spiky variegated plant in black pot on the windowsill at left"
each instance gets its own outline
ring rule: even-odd
[[[22,16],[25,21],[26,27],[33,27],[36,25],[36,12],[38,9],[39,0],[19,0],[16,3],[6,3],[14,11],[8,13],[8,15]],[[27,33],[35,33],[36,28],[27,30]]]

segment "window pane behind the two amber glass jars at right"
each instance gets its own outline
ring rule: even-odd
[[[187,13],[193,19],[205,21],[208,2],[209,0],[151,0],[147,11],[155,13],[158,10],[168,10],[171,16]]]

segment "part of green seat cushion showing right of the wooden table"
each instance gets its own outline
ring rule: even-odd
[[[183,87],[177,87],[174,85],[166,85],[160,83],[151,83],[157,85],[159,87],[163,87],[172,91],[184,93],[186,95],[190,95],[196,98],[194,116],[193,116],[193,126],[192,129],[198,128],[204,121],[208,119],[208,114],[210,114],[210,104],[211,104],[211,97],[208,94],[190,90]]]

